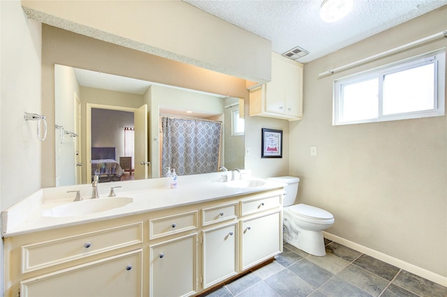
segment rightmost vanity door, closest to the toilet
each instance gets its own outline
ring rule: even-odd
[[[281,213],[242,221],[242,269],[279,254],[282,249]]]

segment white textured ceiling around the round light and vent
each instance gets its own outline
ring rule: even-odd
[[[318,15],[323,0],[183,1],[272,41],[272,50],[279,54],[297,46],[307,50],[310,54],[297,60],[302,63],[447,4],[447,0],[354,0],[344,19],[325,23]]]

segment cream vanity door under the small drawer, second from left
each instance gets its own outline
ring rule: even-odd
[[[150,296],[189,296],[197,291],[197,235],[150,248]]]

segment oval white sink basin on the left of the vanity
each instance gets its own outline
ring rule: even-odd
[[[132,201],[133,199],[128,197],[85,199],[55,206],[43,211],[42,215],[50,218],[64,218],[76,215],[87,215],[89,213],[101,213],[102,211],[110,211],[110,209],[123,207]]]

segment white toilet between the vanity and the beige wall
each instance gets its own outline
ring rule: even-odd
[[[300,178],[279,176],[268,178],[286,183],[283,200],[284,241],[314,256],[324,256],[323,230],[334,224],[334,216],[321,208],[295,204]]]

